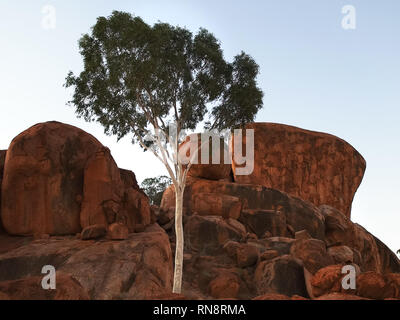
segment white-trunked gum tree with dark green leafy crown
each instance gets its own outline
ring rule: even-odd
[[[175,188],[176,253],[173,292],[183,270],[182,204],[187,172],[178,157],[185,130],[233,129],[254,121],[262,108],[259,67],[244,52],[232,62],[206,29],[196,34],[167,23],[146,24],[114,11],[99,17],[79,40],[84,70],[70,72],[69,102],[78,117],[97,121],[118,140],[126,135],[166,167]],[[173,126],[176,134],[170,134]],[[151,139],[149,139],[149,136]],[[191,160],[190,158],[189,160]]]

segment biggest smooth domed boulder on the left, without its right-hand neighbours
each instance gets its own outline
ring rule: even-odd
[[[2,184],[2,221],[15,235],[80,232],[79,199],[87,160],[101,143],[59,122],[34,125],[13,139]]]

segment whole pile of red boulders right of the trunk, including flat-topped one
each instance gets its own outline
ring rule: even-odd
[[[254,171],[234,181],[187,179],[184,200],[184,294],[230,299],[398,299],[400,261],[350,220],[365,160],[329,134],[272,123],[254,129]],[[246,139],[231,140],[245,150]],[[246,165],[246,163],[244,164]],[[210,175],[207,175],[207,171]],[[206,178],[208,177],[208,178]],[[163,194],[158,219],[168,231],[174,187]],[[168,218],[170,221],[168,221]],[[357,270],[357,290],[345,290],[344,266]]]

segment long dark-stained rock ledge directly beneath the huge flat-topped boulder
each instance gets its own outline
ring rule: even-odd
[[[286,225],[290,225],[294,231],[306,229],[314,238],[324,239],[324,217],[318,208],[284,192],[262,186],[188,179],[184,194],[185,212],[195,211],[195,198],[202,193],[237,197],[242,204],[239,220],[248,224],[253,233],[260,235],[272,228],[270,231],[276,236],[284,236]],[[160,208],[168,211],[173,206],[175,193],[171,186],[165,191]],[[213,211],[210,210],[209,214],[213,214]],[[219,215],[223,216],[223,213]]]

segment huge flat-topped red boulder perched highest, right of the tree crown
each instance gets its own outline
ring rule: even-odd
[[[350,217],[351,203],[366,168],[363,157],[333,135],[276,123],[253,123],[254,171],[239,183],[281,190],[314,205],[327,204]],[[242,141],[231,142],[235,144]],[[245,149],[245,138],[243,147]]]

